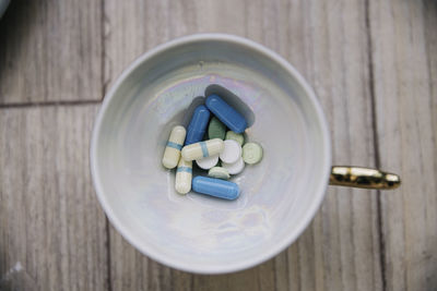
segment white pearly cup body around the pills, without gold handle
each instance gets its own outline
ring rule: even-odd
[[[232,178],[236,201],[179,195],[175,171],[161,163],[169,132],[188,124],[193,100],[226,90],[249,109],[246,137],[264,157]],[[243,38],[191,36],[123,72],[94,129],[92,172],[110,221],[142,253],[178,269],[228,272],[274,256],[310,222],[328,183],[329,142],[314,93],[283,59]]]

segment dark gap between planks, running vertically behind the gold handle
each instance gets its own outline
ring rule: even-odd
[[[376,99],[375,99],[375,76],[374,76],[374,56],[371,43],[371,25],[370,25],[370,0],[365,2],[365,22],[367,35],[367,70],[369,74],[369,93],[371,104],[371,128],[374,137],[375,166],[380,168],[379,138],[377,128]],[[381,192],[377,191],[377,222],[378,222],[378,240],[379,240],[379,265],[381,267],[381,283],[382,290],[387,290],[387,270],[386,270],[386,242],[383,238],[383,219],[382,219],[382,196]]]

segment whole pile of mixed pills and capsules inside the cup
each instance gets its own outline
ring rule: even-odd
[[[187,130],[181,125],[173,128],[163,165],[167,169],[177,167],[176,191],[187,194],[192,189],[218,198],[237,198],[238,185],[226,180],[240,173],[246,163],[255,165],[262,158],[259,144],[245,144],[243,133],[247,126],[246,119],[233,107],[217,95],[210,95],[205,105],[196,108]],[[208,177],[192,179],[193,160],[200,169],[208,170]]]

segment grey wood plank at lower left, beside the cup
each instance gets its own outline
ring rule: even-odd
[[[96,109],[0,109],[1,290],[107,290],[88,166]]]

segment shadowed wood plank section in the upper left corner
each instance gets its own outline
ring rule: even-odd
[[[0,21],[0,105],[102,99],[102,1],[11,1]]]

